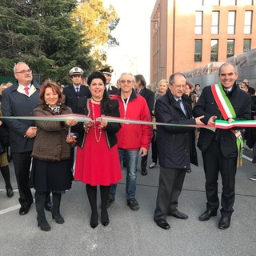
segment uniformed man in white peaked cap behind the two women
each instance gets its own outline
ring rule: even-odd
[[[90,98],[90,90],[88,86],[82,85],[83,70],[80,67],[74,67],[70,70],[70,79],[72,85],[66,86],[62,94],[65,95],[65,105],[69,106],[74,114],[78,113],[78,102],[86,101]],[[70,148],[70,170],[74,166],[74,147]]]

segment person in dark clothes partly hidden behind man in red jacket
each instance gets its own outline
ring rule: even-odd
[[[154,92],[146,88],[146,80],[142,76],[142,74],[134,75],[135,82],[134,82],[134,89],[136,94],[140,94],[143,98],[146,99],[147,106],[150,110],[150,115],[152,117],[153,110],[154,110]],[[146,170],[146,163],[147,163],[148,154],[142,157],[141,161],[141,168],[142,168],[142,175],[145,176],[147,174]]]

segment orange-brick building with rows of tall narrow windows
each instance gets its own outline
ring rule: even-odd
[[[157,0],[150,83],[256,48],[256,0]]]

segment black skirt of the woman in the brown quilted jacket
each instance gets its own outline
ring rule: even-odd
[[[39,192],[61,192],[70,190],[73,180],[69,160],[46,162],[33,159],[29,181],[30,188],[34,187]]]

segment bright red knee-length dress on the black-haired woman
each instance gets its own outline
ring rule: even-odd
[[[90,118],[94,120],[102,114],[100,105],[92,105]],[[122,179],[118,146],[108,147],[106,132],[99,129],[98,122],[90,126],[83,148],[78,146],[74,179],[91,186],[109,186]]]

